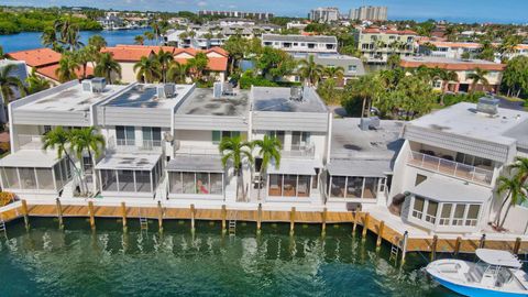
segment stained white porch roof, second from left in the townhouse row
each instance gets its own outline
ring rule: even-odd
[[[96,169],[152,170],[161,156],[161,153],[109,154],[97,163]]]

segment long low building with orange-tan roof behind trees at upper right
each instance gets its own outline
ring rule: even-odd
[[[488,72],[488,74],[485,76],[488,86],[484,86],[482,81],[480,81],[474,86],[475,90],[496,92],[501,87],[503,72],[506,67],[506,65],[504,64],[497,64],[484,59],[458,59],[433,56],[403,57],[399,65],[407,69],[426,66],[428,68],[440,68],[449,72],[454,72],[457,74],[457,80],[447,82],[441,80],[433,81],[433,88],[436,88],[437,90],[452,92],[468,92],[472,90],[473,80],[470,78],[470,75],[476,72],[476,69],[483,69]]]

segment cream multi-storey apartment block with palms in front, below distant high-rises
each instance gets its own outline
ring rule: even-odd
[[[387,62],[388,56],[410,56],[415,53],[418,34],[410,30],[369,28],[359,31],[358,48],[367,63]]]

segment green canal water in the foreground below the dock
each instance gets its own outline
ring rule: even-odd
[[[135,224],[134,224],[135,223]],[[354,239],[346,226],[319,227],[239,222],[234,237],[218,222],[156,222],[140,232],[135,220],[122,232],[117,220],[51,219],[8,226],[0,244],[0,296],[447,296],[409,254],[400,270],[391,246]]]

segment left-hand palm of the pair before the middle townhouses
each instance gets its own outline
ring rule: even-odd
[[[233,174],[237,176],[237,197],[242,193],[242,200],[245,200],[244,177],[242,175],[242,165],[246,161],[250,165],[253,164],[253,156],[251,155],[252,144],[242,141],[240,136],[223,138],[218,146],[222,155],[222,165],[226,168],[231,162],[233,166]],[[239,188],[241,189],[239,191]]]

